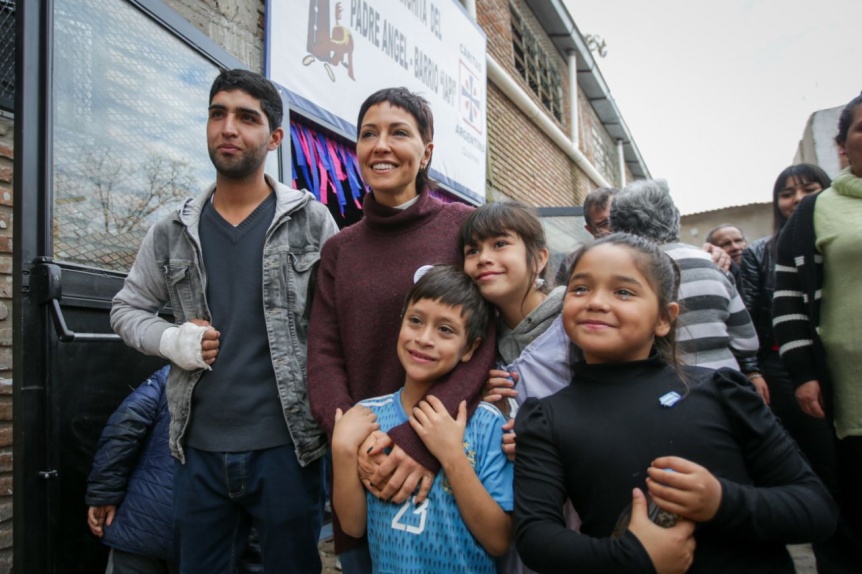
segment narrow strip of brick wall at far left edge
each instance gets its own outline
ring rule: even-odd
[[[0,574],[12,571],[12,161],[14,123],[0,117]]]

